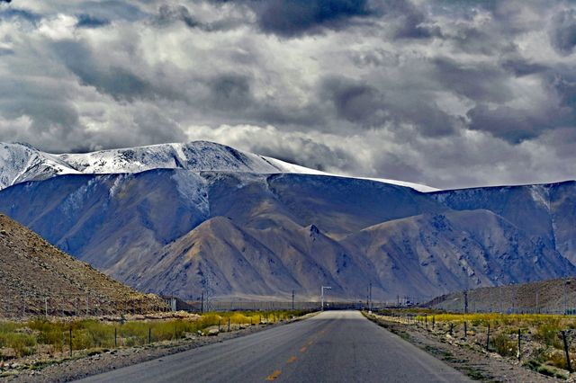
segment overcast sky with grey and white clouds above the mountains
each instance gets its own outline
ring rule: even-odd
[[[208,139],[439,188],[576,178],[576,3],[0,0],[0,140]]]

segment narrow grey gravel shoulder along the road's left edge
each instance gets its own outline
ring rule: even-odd
[[[176,342],[152,343],[141,347],[131,347],[115,350],[103,350],[102,352],[92,352],[83,357],[53,361],[45,366],[34,369],[23,368],[23,370],[13,370],[0,377],[2,381],[8,382],[68,382],[76,379],[86,378],[100,374],[109,370],[116,370],[122,367],[138,364],[143,361],[151,361],[171,355],[177,352],[184,352],[208,344],[221,343],[229,339],[238,338],[247,334],[254,334],[266,329],[285,325],[294,321],[299,321],[317,313],[295,318],[292,321],[280,322],[268,325],[252,325],[240,328],[236,331],[220,332],[216,336],[192,335],[186,339]]]

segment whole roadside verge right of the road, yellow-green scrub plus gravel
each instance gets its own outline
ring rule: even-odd
[[[508,364],[509,368],[496,366],[496,370],[500,369],[500,373],[507,370],[508,375],[508,370],[515,370],[515,373],[533,370],[558,379],[568,377],[568,371],[563,370],[567,361],[563,354],[561,329],[568,328],[565,334],[574,335],[576,320],[570,316],[464,315],[418,308],[384,310],[378,316],[365,316],[446,361],[471,379],[503,379],[491,370],[495,364],[500,366],[500,362]],[[576,353],[571,349],[570,354]],[[500,381],[514,381],[506,379]],[[537,379],[537,375],[530,379]]]

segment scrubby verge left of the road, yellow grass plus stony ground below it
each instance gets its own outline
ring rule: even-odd
[[[10,376],[86,357],[97,357],[107,352],[113,354],[133,347],[148,348],[151,347],[149,343],[169,345],[175,341],[193,342],[193,339],[201,339],[202,336],[217,336],[228,329],[229,323],[230,331],[233,332],[257,324],[274,325],[298,320],[307,313],[208,313],[179,319],[126,322],[121,318],[118,322],[98,319],[50,322],[43,318],[20,323],[0,321],[0,374]],[[185,316],[184,313],[182,315]]]

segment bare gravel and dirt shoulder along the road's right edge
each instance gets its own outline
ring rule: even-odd
[[[463,372],[471,379],[482,382],[565,382],[528,370],[519,361],[504,359],[499,354],[473,348],[449,334],[438,334],[417,325],[404,325],[367,316],[393,334],[434,355],[437,359]],[[574,374],[572,374],[574,375]],[[569,381],[574,381],[571,377]]]

